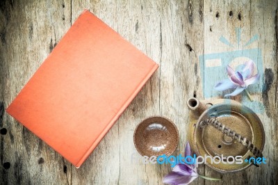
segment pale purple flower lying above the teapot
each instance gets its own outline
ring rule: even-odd
[[[229,79],[224,79],[214,86],[215,90],[227,90],[229,88],[234,88],[234,92],[224,95],[224,97],[228,96],[236,96],[239,93],[246,91],[248,97],[250,94],[247,92],[246,88],[260,79],[260,74],[254,74],[254,69],[256,65],[253,61],[247,61],[239,71],[234,71],[229,65],[227,65],[226,70],[229,75]]]

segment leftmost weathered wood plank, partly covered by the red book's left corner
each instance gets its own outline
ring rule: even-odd
[[[1,1],[3,108],[70,28],[70,1]],[[71,166],[37,136],[3,113],[0,184],[70,184]],[[8,165],[10,164],[10,165]]]

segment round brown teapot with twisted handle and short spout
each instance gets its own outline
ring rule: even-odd
[[[226,160],[206,165],[219,172],[237,172],[254,164],[250,158],[262,157],[265,132],[259,117],[247,106],[231,99],[199,101],[190,98],[188,141],[197,156],[224,156]],[[234,156],[242,163],[230,159]],[[215,157],[216,158],[216,157]],[[206,160],[206,159],[205,159]]]

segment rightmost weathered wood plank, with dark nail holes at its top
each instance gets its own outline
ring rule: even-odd
[[[263,154],[268,159],[268,165],[262,165],[260,168],[252,166],[236,174],[221,175],[222,182],[206,182],[206,184],[277,184],[278,168],[277,156],[275,156],[277,134],[273,132],[277,129],[277,111],[275,111],[277,102],[274,101],[277,96],[275,10],[277,10],[275,1],[205,1],[204,3],[204,14],[206,15],[204,19],[204,52],[206,54],[252,48],[262,51],[263,83],[260,84],[260,88],[253,90],[252,97],[254,101],[263,103],[265,107],[259,117],[265,129]],[[241,29],[239,45],[236,28]],[[245,43],[256,34],[259,35],[259,40],[245,47]],[[227,38],[234,47],[219,42],[221,36]],[[238,61],[244,59],[246,60],[246,58],[240,58]],[[243,100],[242,95],[238,95],[234,99]],[[218,172],[206,167],[206,175],[215,177],[218,176]]]

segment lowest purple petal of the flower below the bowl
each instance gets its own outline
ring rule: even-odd
[[[190,182],[193,182],[194,179],[196,179],[198,176],[184,176],[179,175],[176,172],[170,172],[168,175],[166,175],[163,178],[163,183],[165,184],[189,184]]]

